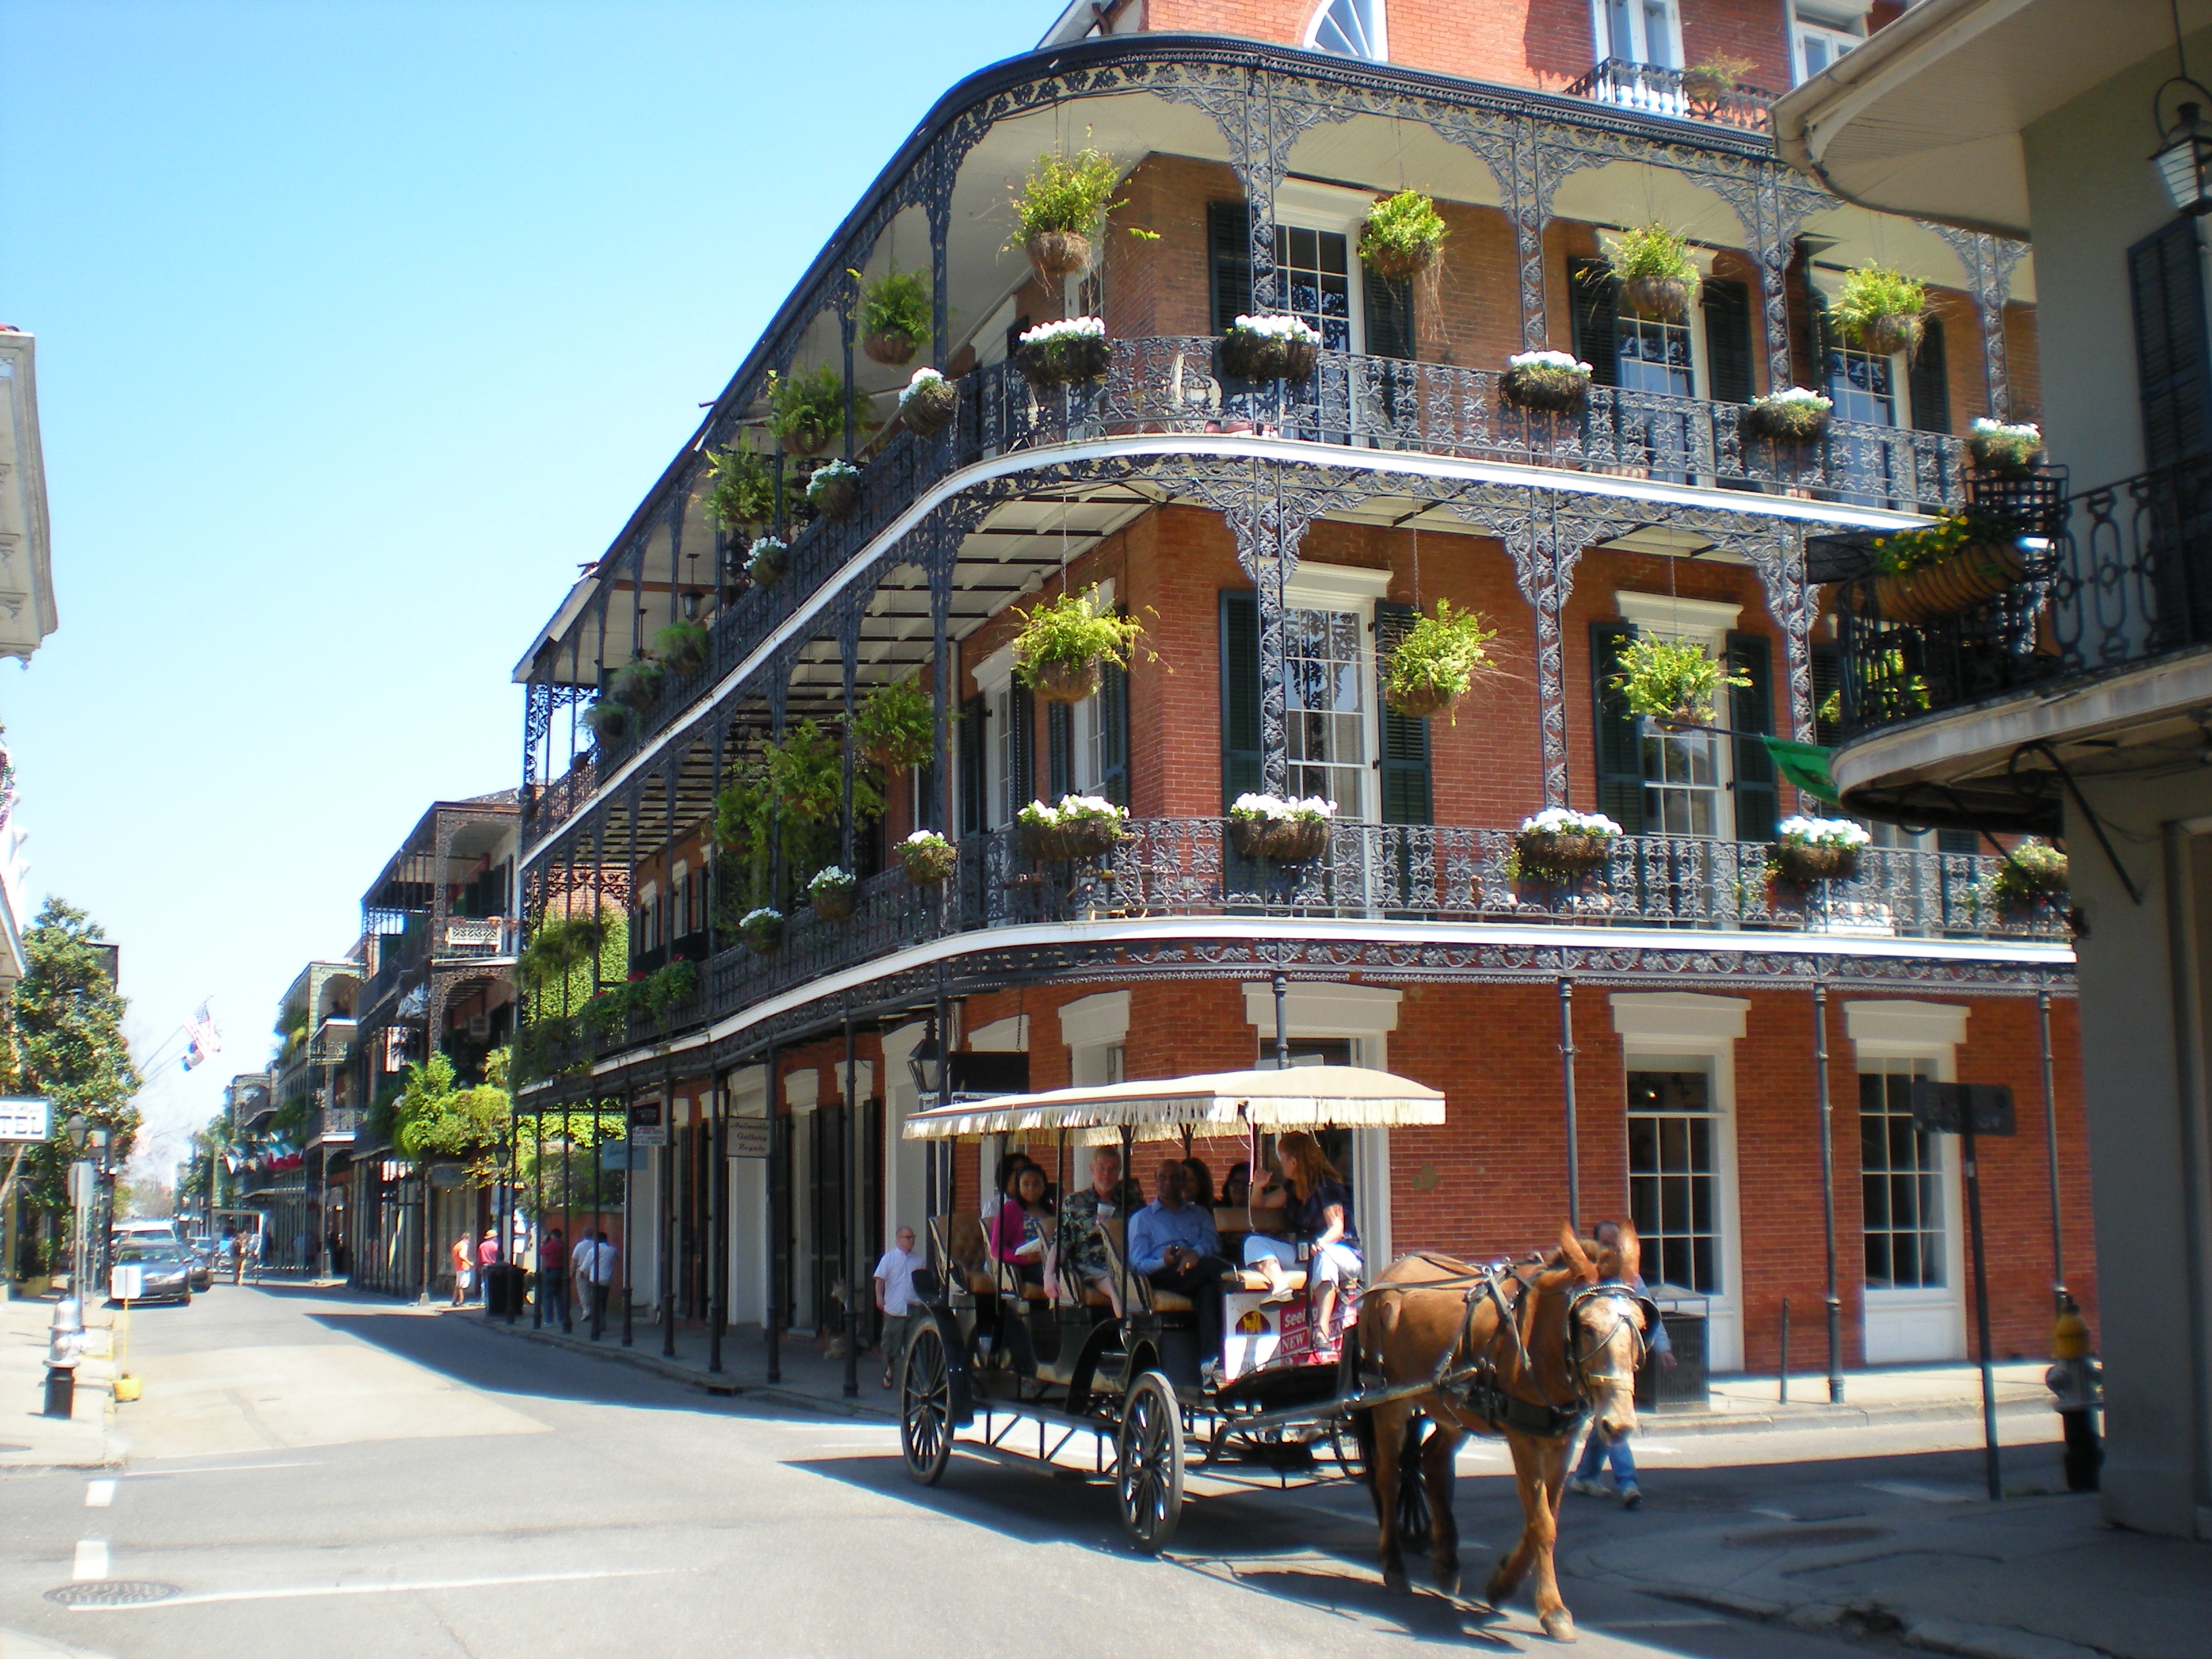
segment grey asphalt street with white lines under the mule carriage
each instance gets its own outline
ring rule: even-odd
[[[283,1287],[137,1312],[131,1369],[146,1398],[119,1407],[122,1469],[0,1480],[4,1659],[1551,1646],[1526,1593],[1502,1613],[1387,1595],[1365,1493],[1340,1482],[1210,1495],[1144,1559],[1102,1486],[962,1455],[922,1491],[880,1420]],[[1902,1425],[1668,1444],[1650,1425],[1644,1511],[1571,1498],[1562,1559],[1624,1528],[1725,1548],[1736,1524],[1964,1502],[1980,1453],[1960,1440]],[[2006,1478],[2057,1486],[2055,1449],[2015,1447]],[[1462,1460],[1458,1513],[1478,1588],[1520,1526],[1500,1449]],[[1593,1655],[1869,1652],[1606,1577],[1562,1588]]]

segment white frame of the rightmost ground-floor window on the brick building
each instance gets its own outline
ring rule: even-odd
[[[1867,1062],[1918,1060],[1927,1062],[1936,1082],[1958,1082],[1958,1048],[1966,1042],[1969,1013],[1971,1009],[1962,1002],[1847,1000],[1843,1029],[1851,1042],[1854,1075],[1865,1071]],[[1858,1113],[1856,1093],[1851,1113]],[[1856,1135],[1851,1144],[1858,1144]],[[1936,1144],[1942,1152],[1944,1285],[1940,1290],[1874,1290],[1865,1283],[1867,1267],[1865,1254],[1860,1254],[1860,1352],[1867,1365],[1966,1358],[1966,1296],[1962,1292],[1966,1243],[1960,1223],[1964,1194],[1958,1137],[1938,1135]],[[1860,1230],[1865,1230],[1865,1221],[1860,1221]]]

